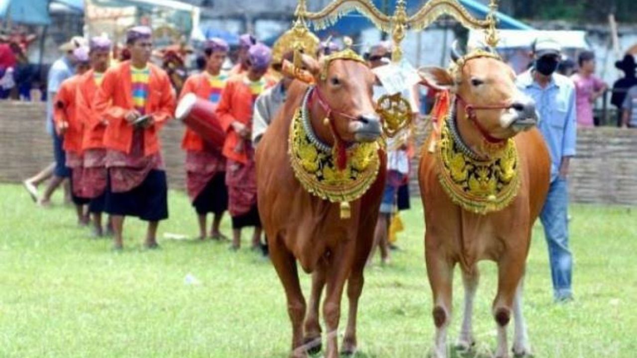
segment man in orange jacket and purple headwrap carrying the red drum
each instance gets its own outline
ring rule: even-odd
[[[221,98],[228,76],[221,72],[228,44],[220,38],[211,38],[204,47],[206,68],[192,75],[183,85],[180,99],[189,93],[210,101],[215,108]],[[225,157],[191,129],[186,129],[182,148],[186,151],[186,187],[190,202],[199,220],[199,239],[206,238],[206,216],[213,214],[210,237],[227,240],[219,230],[221,218],[228,207],[228,190],[225,186]]]

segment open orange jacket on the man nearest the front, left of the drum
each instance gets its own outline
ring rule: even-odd
[[[144,129],[144,155],[159,152],[158,132],[175,112],[175,91],[168,75],[154,64],[148,64],[150,80],[145,112],[151,114],[154,124]],[[130,153],[133,127],[124,116],[134,106],[132,102],[130,61],[120,62],[104,73],[102,85],[93,100],[93,108],[106,119],[104,147]]]

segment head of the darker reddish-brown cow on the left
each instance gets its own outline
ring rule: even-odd
[[[375,76],[359,55],[350,49],[320,61],[304,55],[303,67],[314,77],[310,101],[313,112],[320,113],[313,115],[326,118],[318,132],[331,130],[337,141],[350,143],[378,139],[381,125],[372,97]]]

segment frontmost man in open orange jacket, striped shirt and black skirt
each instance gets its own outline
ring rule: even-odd
[[[94,107],[108,125],[105,211],[111,214],[115,250],[122,250],[124,217],[148,222],[145,247],[157,248],[159,220],[168,218],[168,185],[159,130],[175,111],[175,93],[166,72],[149,63],[152,31],[136,26],[126,34],[131,60],[108,69]]]

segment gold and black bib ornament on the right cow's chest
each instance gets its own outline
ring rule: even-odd
[[[442,125],[437,150],[438,180],[455,204],[481,215],[506,208],[520,189],[520,161],[515,142],[485,161],[462,152],[454,140],[450,121]]]

